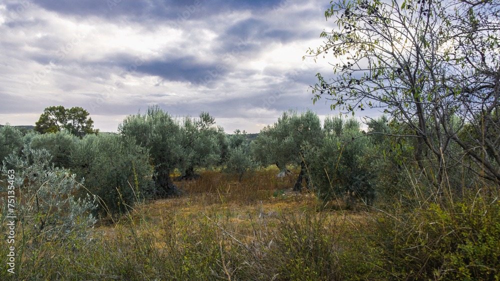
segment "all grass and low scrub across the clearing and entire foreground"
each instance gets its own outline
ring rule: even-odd
[[[438,201],[415,184],[392,208],[318,211],[309,194],[276,192],[294,181],[275,174],[261,170],[239,183],[202,171],[198,180],[176,182],[183,196],[137,201],[117,219],[101,220],[87,239],[35,247],[22,236],[16,274],[2,269],[0,279],[500,278],[497,189]],[[410,207],[405,198],[414,201],[415,192],[421,200]],[[5,260],[5,239],[0,243]]]

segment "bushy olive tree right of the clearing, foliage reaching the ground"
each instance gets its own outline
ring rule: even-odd
[[[308,146],[306,161],[318,195],[323,200],[348,195],[352,203],[360,199],[371,205],[375,198],[372,149],[369,139],[360,137],[360,123],[327,116],[321,146]],[[342,144],[343,143],[343,144]]]

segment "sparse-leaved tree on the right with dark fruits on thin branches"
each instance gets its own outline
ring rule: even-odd
[[[454,166],[500,184],[500,137],[492,133],[500,129],[499,7],[489,0],[333,1],[325,17],[338,28],[323,31],[324,45],[308,54],[330,56],[335,75],[317,73],[314,102],[331,99],[332,109],[352,115],[388,114],[392,135],[415,139],[413,157],[436,187]]]

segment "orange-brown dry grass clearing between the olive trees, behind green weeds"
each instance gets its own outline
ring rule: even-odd
[[[305,188],[301,193],[291,190],[295,182],[293,175],[280,178],[275,176],[278,172],[277,168],[272,167],[262,169],[238,182],[236,176],[201,171],[197,180],[174,182],[182,188],[184,195],[136,205],[129,214],[122,216],[120,223],[147,226],[163,225],[171,220],[182,222],[209,218],[211,223],[216,223],[224,230],[248,237],[255,234],[252,225],[255,217],[265,217],[267,230],[271,231],[276,230],[282,216],[322,209],[314,194]],[[366,218],[365,213],[356,211],[326,213],[347,225],[356,225]],[[160,228],[153,233],[159,234]],[[115,236],[115,226],[109,218],[101,219],[96,230],[103,231],[108,237]]]

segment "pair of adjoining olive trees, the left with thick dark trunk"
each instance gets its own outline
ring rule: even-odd
[[[187,116],[179,122],[156,105],[148,107],[144,114],[127,116],[118,131],[148,149],[158,194],[174,195],[181,192],[170,176],[175,168],[183,172],[182,178],[192,179],[195,167],[220,160],[225,138],[220,137],[223,129],[213,127],[214,123],[206,112],[201,112],[199,118]]]

